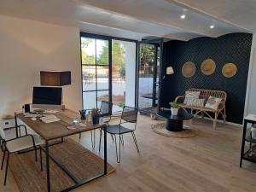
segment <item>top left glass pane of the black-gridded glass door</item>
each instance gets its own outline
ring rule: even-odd
[[[81,38],[82,64],[96,64],[96,41],[94,38]]]

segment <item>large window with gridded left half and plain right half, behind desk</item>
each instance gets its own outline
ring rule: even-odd
[[[102,101],[113,102],[113,113],[135,107],[136,53],[133,41],[81,35],[84,109],[100,108]]]

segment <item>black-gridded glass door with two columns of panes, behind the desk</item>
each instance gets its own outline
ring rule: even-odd
[[[109,101],[109,40],[81,37],[83,108]]]

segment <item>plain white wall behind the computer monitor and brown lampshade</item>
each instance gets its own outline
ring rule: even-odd
[[[82,107],[79,28],[0,15],[0,117],[32,102],[41,70],[70,70],[64,104]]]

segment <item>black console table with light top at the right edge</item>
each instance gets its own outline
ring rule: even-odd
[[[248,124],[256,125],[256,115],[249,114],[244,119],[243,131],[242,131],[242,141],[241,141],[241,158],[240,158],[240,167],[242,160],[247,160],[253,163],[256,163],[256,154],[253,154],[253,151],[256,151],[256,139],[253,139],[250,134],[250,129],[247,129]],[[248,146],[246,146],[248,144]],[[245,148],[247,148],[245,150]]]

